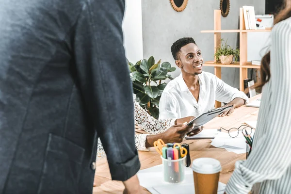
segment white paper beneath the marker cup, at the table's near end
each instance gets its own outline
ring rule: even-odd
[[[193,171],[185,167],[185,179],[178,184],[165,183],[162,180],[162,165],[154,166],[137,173],[141,186],[152,194],[195,194]],[[217,194],[224,194],[226,184],[219,182]]]

